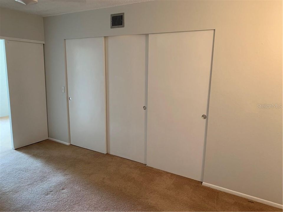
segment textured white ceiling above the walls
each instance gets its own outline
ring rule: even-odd
[[[38,0],[37,4],[29,5],[14,0],[0,0],[0,6],[46,17],[145,1],[152,0]]]

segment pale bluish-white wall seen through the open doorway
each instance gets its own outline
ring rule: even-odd
[[[0,117],[9,115],[4,40],[0,40]]]

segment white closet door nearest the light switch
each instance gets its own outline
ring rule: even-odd
[[[106,153],[104,37],[66,40],[71,144]]]

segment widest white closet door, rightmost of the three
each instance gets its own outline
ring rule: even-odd
[[[147,165],[201,181],[213,30],[149,35]]]

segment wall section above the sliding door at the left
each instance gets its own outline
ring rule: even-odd
[[[0,36],[44,41],[43,18],[1,7]]]

